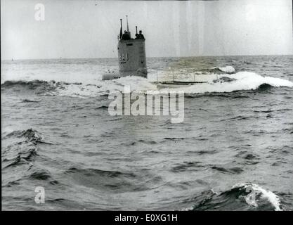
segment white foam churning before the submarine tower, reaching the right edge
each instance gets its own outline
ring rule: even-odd
[[[214,79],[221,79],[221,77],[228,77],[233,79],[231,82],[216,82]],[[242,90],[255,90],[261,84],[269,84],[271,86],[280,87],[287,86],[293,87],[293,82],[286,79],[275,77],[262,77],[254,72],[237,72],[232,75],[197,75],[197,81],[206,81],[204,84],[193,84],[188,86],[169,86],[165,87],[164,91],[184,91],[185,94],[203,94],[212,92],[232,92]],[[235,79],[235,80],[234,80]],[[157,90],[157,84],[150,82],[149,79],[143,77],[122,77],[119,79],[112,79],[107,81],[95,80],[92,84],[86,82],[85,84],[70,84],[63,86],[62,89],[56,90],[56,95],[59,96],[73,96],[73,97],[93,97],[103,94],[110,94],[113,91],[124,92],[124,86],[129,86],[131,91],[143,92]]]

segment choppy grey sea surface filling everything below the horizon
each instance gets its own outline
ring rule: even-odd
[[[293,210],[293,56],[148,58],[148,79],[101,80],[116,69],[1,62],[3,210]],[[172,87],[182,123],[109,115],[111,91],[190,72],[208,83]]]

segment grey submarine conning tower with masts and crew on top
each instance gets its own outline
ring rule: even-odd
[[[102,76],[103,80],[119,79],[127,76],[148,78],[148,70],[145,57],[145,37],[142,31],[137,32],[136,38],[131,37],[128,17],[126,15],[127,30],[122,33],[122,19],[120,19],[120,34],[118,35],[118,62],[119,72],[108,71]]]

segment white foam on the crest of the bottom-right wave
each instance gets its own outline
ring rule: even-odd
[[[282,209],[280,208],[280,198],[278,195],[276,195],[272,191],[267,191],[266,189],[262,188],[261,186],[257,184],[236,184],[232,188],[241,188],[241,187],[252,188],[256,192],[256,194],[261,193],[261,198],[266,198],[273,205],[273,207],[275,207],[275,211],[282,211]],[[247,198],[245,198],[245,200],[247,204],[257,207],[256,200],[252,201],[252,200],[248,200]]]

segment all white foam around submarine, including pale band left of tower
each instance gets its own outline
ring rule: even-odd
[[[7,66],[6,66],[7,67]],[[122,77],[120,79],[113,79],[109,81],[102,81],[101,76],[103,70],[107,66],[101,65],[84,65],[80,68],[79,65],[56,65],[52,68],[47,65],[39,68],[39,65],[27,65],[27,70],[22,70],[22,65],[15,65],[13,68],[2,68],[4,77],[1,77],[1,83],[6,80],[14,81],[33,81],[36,79],[50,82],[67,82],[58,86],[56,90],[50,91],[48,95],[58,96],[72,96],[72,97],[91,97],[109,94],[112,91],[124,91],[124,86],[129,85],[131,91],[149,91],[157,90],[157,72],[150,70],[148,79],[143,77]],[[111,67],[110,67],[111,68]],[[286,79],[275,77],[262,77],[254,72],[235,72],[232,66],[219,67],[219,70],[227,72],[227,74],[217,75],[215,73],[207,73],[202,71],[190,71],[180,69],[176,71],[176,77],[173,78],[172,72],[164,72],[167,77],[161,77],[159,81],[171,81],[176,79],[178,81],[204,81],[204,84],[194,84],[188,86],[167,86],[164,89],[174,91],[184,91],[185,94],[202,94],[210,92],[231,92],[241,90],[257,89],[261,84],[269,84],[271,86],[287,86],[293,87],[293,83]],[[214,79],[221,79],[221,77],[228,77],[232,80],[230,82],[213,82]],[[166,79],[166,80],[165,80]],[[82,83],[82,84],[72,84]]]

